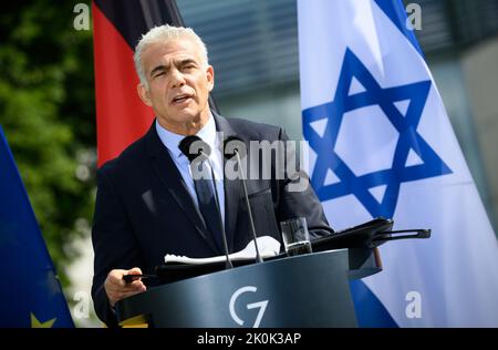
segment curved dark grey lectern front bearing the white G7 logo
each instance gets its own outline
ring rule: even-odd
[[[347,249],[313,253],[155,287],[116,310],[122,326],[356,327]]]

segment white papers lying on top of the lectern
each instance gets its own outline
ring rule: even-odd
[[[258,249],[262,258],[269,258],[276,256],[280,253],[280,243],[270,236],[258,237]],[[249,244],[240,251],[232,253],[229,255],[230,260],[251,260],[256,259],[256,247],[255,240],[252,239]],[[168,262],[180,262],[180,264],[212,264],[221,262],[227,259],[226,256],[220,255],[210,258],[189,258],[186,256],[177,256],[172,254],[166,254],[164,261]]]

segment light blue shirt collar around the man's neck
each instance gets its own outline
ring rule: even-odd
[[[156,131],[159,135],[160,141],[163,144],[168,148],[168,151],[172,153],[172,155],[176,158],[184,156],[180,148],[178,147],[181,140],[184,140],[185,135],[175,134],[163,126],[159,125],[156,119]],[[216,147],[216,123],[215,117],[211,113],[209,113],[209,120],[206,123],[206,125],[203,126],[201,130],[199,130],[196,133],[197,136],[199,136],[204,142],[206,142],[211,150],[215,150]]]

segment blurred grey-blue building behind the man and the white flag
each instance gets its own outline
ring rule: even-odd
[[[415,33],[497,231],[498,1],[405,4],[409,2],[421,7],[422,30]],[[291,138],[300,140],[295,0],[177,4],[186,25],[208,45],[221,114],[282,125]]]

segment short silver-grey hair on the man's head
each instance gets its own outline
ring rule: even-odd
[[[190,39],[200,49],[201,64],[206,68],[209,64],[206,44],[191,28],[173,27],[169,24],[154,27],[147,33],[142,35],[142,39],[135,47],[135,54],[133,55],[136,73],[138,74],[141,83],[144,84],[146,89],[148,89],[148,83],[145,78],[144,65],[142,64],[142,52],[153,43],[167,43],[178,39]]]

